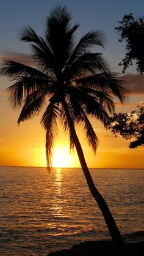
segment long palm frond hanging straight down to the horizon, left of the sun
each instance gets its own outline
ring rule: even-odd
[[[59,107],[50,102],[41,118],[41,124],[46,129],[46,160],[49,171],[52,165],[52,149],[54,148],[54,140],[57,137],[57,118],[59,115]]]

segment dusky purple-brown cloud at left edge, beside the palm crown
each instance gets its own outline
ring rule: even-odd
[[[34,60],[30,55],[26,55],[24,53],[14,53],[10,51],[5,51],[0,56],[1,61],[6,61],[7,59],[10,59],[12,61],[23,63],[27,66],[34,65]]]

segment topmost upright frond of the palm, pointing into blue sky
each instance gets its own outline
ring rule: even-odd
[[[78,28],[70,26],[71,15],[65,7],[57,7],[47,18],[46,42],[56,58],[57,70],[62,72],[73,50],[73,33]]]

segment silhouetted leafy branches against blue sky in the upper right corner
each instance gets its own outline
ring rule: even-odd
[[[123,20],[118,21],[119,27],[116,27],[120,33],[119,42],[126,41],[126,54],[120,62],[123,66],[123,73],[133,64],[137,65],[137,72],[144,72],[144,17],[134,18],[132,13],[125,14]]]

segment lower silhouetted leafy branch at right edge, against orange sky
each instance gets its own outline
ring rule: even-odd
[[[131,140],[129,148],[144,145],[144,107],[128,113],[114,114],[108,123],[108,128],[115,134],[120,134],[126,140]]]

